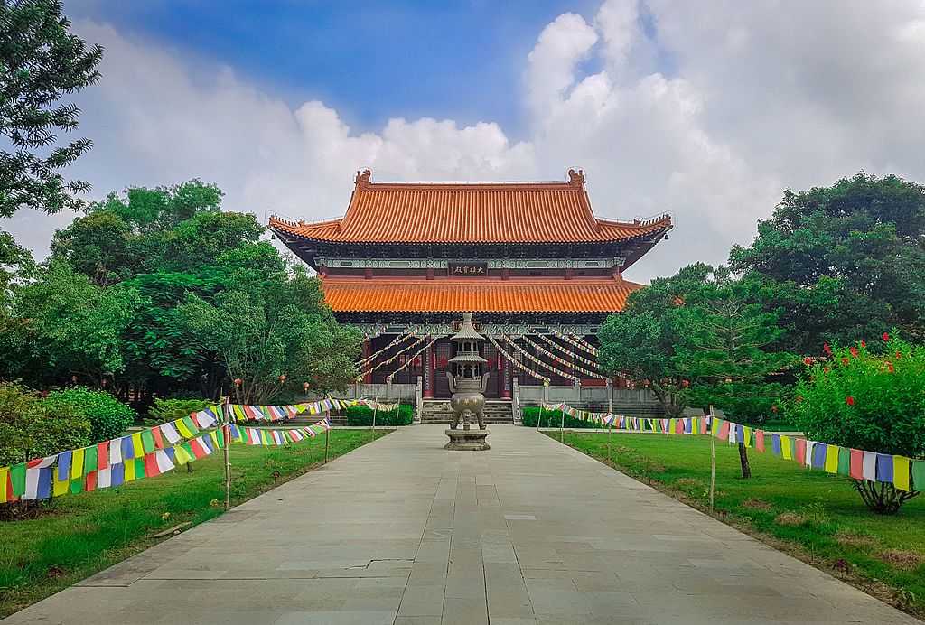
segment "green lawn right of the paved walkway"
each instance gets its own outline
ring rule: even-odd
[[[558,439],[559,433],[549,433]],[[608,463],[607,435],[565,434],[565,443]],[[915,616],[925,615],[925,495],[899,514],[864,507],[851,482],[717,441],[714,516],[827,570]],[[697,509],[709,509],[709,437],[614,435],[611,466]]]

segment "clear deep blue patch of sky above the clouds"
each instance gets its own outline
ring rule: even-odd
[[[356,129],[389,117],[499,122],[524,135],[518,92],[536,33],[596,0],[279,2],[71,0],[74,19],[235,67],[291,105],[322,100]]]

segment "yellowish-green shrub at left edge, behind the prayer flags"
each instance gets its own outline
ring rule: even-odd
[[[90,445],[82,411],[40,398],[25,386],[0,384],[0,466]]]

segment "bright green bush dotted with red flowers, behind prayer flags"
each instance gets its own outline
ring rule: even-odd
[[[790,411],[808,438],[910,458],[925,455],[925,347],[884,334],[875,348],[860,341],[805,362]],[[872,509],[895,511],[902,503],[892,484],[856,486]],[[872,504],[871,490],[879,491]],[[898,503],[890,504],[891,497]],[[880,509],[881,504],[895,509]]]

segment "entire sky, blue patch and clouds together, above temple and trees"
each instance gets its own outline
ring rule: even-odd
[[[785,189],[925,181],[925,2],[65,0],[105,46],[75,96],[89,199],[215,182],[227,210],[343,214],[374,180],[564,180],[672,214],[646,281],[724,263]],[[40,258],[73,214],[0,227]]]

